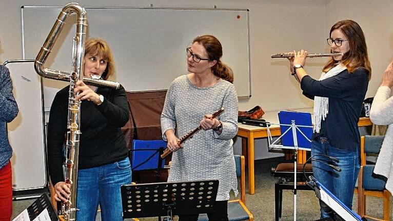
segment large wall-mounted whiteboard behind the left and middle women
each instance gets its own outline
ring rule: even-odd
[[[167,89],[173,79],[187,73],[185,48],[203,34],[216,36],[223,46],[222,61],[234,72],[234,85],[240,97],[249,97],[249,30],[245,9],[184,8],[89,8],[85,7],[89,36],[110,44],[116,76],[127,91]],[[22,7],[24,58],[34,59],[44,43],[61,8]],[[72,37],[76,15],[70,16],[54,45],[46,66],[71,69]],[[44,80],[45,107],[55,93],[66,86]]]

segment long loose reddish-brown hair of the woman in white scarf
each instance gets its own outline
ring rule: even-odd
[[[331,36],[331,32],[336,29],[340,29],[345,34],[349,43],[349,51],[343,55],[341,63],[347,67],[349,73],[359,67],[366,69],[368,71],[368,79],[370,79],[371,66],[368,60],[366,40],[359,24],[352,20],[337,22],[330,28],[329,37]],[[323,67],[323,72],[327,72],[333,68],[335,66],[334,63],[335,61],[331,58],[325,67]]]

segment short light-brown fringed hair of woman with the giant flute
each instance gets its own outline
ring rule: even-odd
[[[100,38],[89,38],[85,43],[85,56],[89,53],[91,55],[100,55],[107,61],[107,66],[101,78],[106,80],[109,76],[114,75],[114,60],[113,54],[106,41]]]

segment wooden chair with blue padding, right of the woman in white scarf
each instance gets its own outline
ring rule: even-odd
[[[374,220],[390,220],[390,192],[385,189],[386,182],[372,176],[374,165],[366,165],[367,153],[378,154],[384,136],[362,136],[360,140],[361,167],[358,178],[358,213]],[[383,198],[383,219],[367,216],[366,195]]]

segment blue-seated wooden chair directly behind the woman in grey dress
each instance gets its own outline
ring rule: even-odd
[[[246,178],[245,178],[245,159],[244,156],[234,155],[236,164],[236,175],[240,177],[240,199],[228,201],[228,219],[229,221],[249,220],[253,221],[252,213],[247,209],[246,203]],[[200,214],[198,221],[207,221],[206,214]]]

